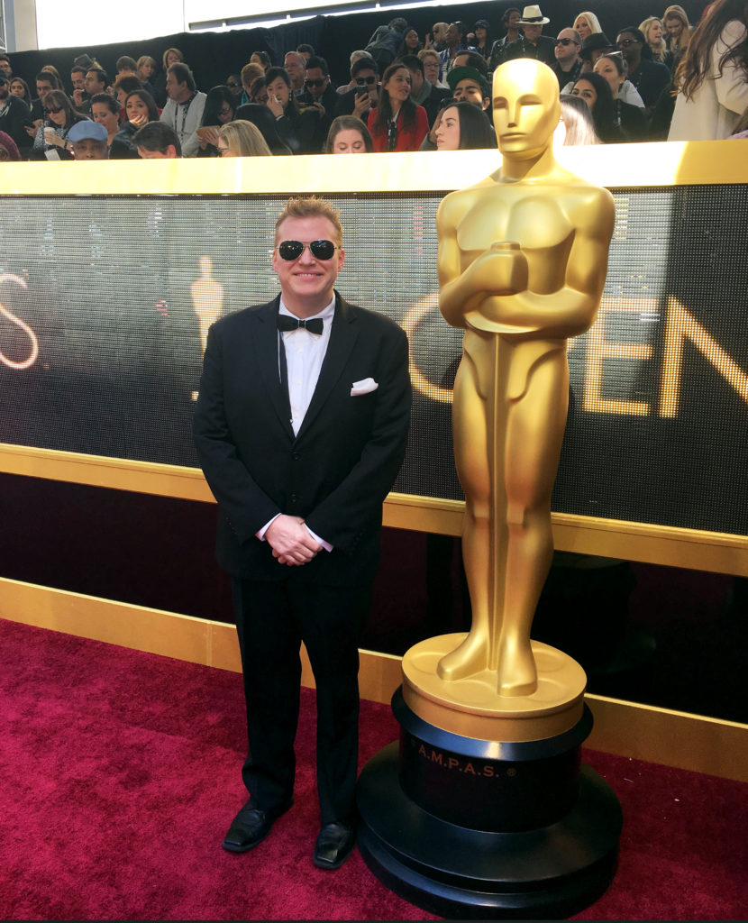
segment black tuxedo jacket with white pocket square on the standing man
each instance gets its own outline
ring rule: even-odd
[[[210,329],[194,435],[219,501],[217,554],[234,577],[354,585],[372,579],[382,502],[408,438],[408,341],[388,318],[336,294],[327,354],[298,436],[279,382],[279,297]],[[353,397],[354,382],[377,388]],[[331,545],[281,565],[255,537],[277,513],[303,517]]]

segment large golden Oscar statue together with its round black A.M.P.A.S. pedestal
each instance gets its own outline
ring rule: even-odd
[[[530,641],[553,553],[566,340],[595,318],[614,222],[611,194],[555,161],[558,97],[548,66],[500,66],[502,165],[436,218],[439,308],[465,330],[453,435],[473,620],[403,657],[400,740],[364,767],[358,800],[374,874],[443,917],[576,913],[610,884],[621,833],[617,797],[580,761],[584,670]]]

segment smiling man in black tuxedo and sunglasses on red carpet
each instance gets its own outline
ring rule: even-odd
[[[289,201],[273,250],[280,294],[210,328],[194,426],[220,505],[250,744],[250,799],[223,846],[253,848],[291,807],[303,641],[316,683],[323,869],[342,865],[355,840],[358,639],[410,414],[405,333],[335,292],[341,245],[327,202]]]

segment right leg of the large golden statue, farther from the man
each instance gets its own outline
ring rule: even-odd
[[[498,644],[498,691],[531,695],[538,685],[530,629],[553,556],[551,495],[568,406],[564,350],[529,372],[528,388],[509,402],[505,441],[507,546]]]

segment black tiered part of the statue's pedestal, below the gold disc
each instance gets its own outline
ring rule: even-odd
[[[451,918],[558,918],[592,904],[615,872],[622,816],[579,763],[592,718],[545,740],[460,737],[422,721],[398,689],[402,726],[363,768],[359,848],[374,874]]]

